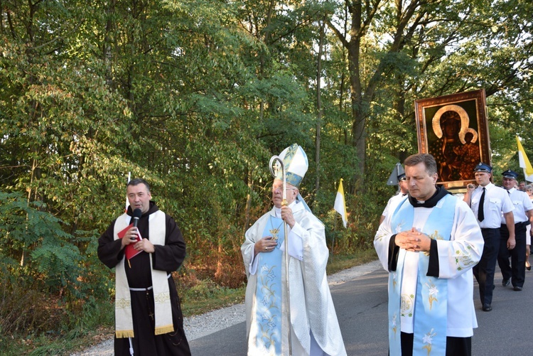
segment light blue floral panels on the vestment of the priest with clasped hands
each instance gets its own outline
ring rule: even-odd
[[[449,241],[455,215],[456,198],[445,195],[438,201],[421,230],[431,239]],[[414,207],[404,200],[392,216],[391,227],[395,233],[411,230]],[[402,355],[400,345],[400,317],[414,318],[413,355],[446,355],[446,326],[448,320],[448,280],[426,276],[429,252],[419,252],[416,297],[403,296],[402,275],[406,251],[400,249],[397,270],[389,273],[389,349],[390,355]],[[403,314],[402,314],[403,313]]]

